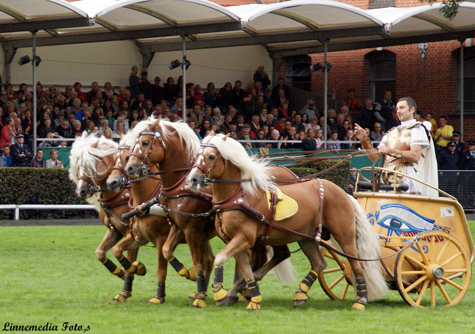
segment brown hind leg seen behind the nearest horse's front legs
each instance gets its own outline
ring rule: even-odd
[[[274,248],[274,256],[272,257],[271,260],[267,261],[264,265],[261,265],[262,262],[254,261],[254,259],[256,259],[256,255],[254,255],[254,250],[253,250],[253,269],[256,269],[253,274],[254,274],[254,279],[256,279],[257,282],[260,281],[262,278],[264,278],[264,276],[266,276],[266,274],[270,270],[276,267],[276,265],[278,265],[280,262],[290,257],[290,251],[287,245],[273,246],[273,248]],[[265,246],[264,246],[264,250],[257,249],[256,251],[264,251],[264,255],[267,256]],[[231,305],[231,304],[237,303],[238,292],[241,292],[244,298],[246,298],[247,300],[250,300],[250,297],[248,296],[247,289],[246,289],[246,280],[241,276],[237,263],[236,263],[236,271],[235,271],[234,279],[235,279],[235,283],[234,283],[233,288],[229,290],[228,296],[226,296],[226,298],[220,301],[219,305]],[[216,305],[218,305],[218,302],[216,303]]]

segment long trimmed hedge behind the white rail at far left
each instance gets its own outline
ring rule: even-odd
[[[75,194],[68,168],[0,168],[0,204],[88,204]],[[95,210],[20,210],[20,219],[98,217]],[[0,210],[13,219],[13,210]]]

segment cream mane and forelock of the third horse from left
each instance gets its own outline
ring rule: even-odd
[[[132,129],[131,142],[135,143],[139,138],[139,133],[147,130],[149,125],[154,123],[154,119],[150,121],[141,121]],[[161,135],[164,139],[170,138],[173,134],[178,134],[181,143],[185,143],[186,151],[190,159],[194,158],[196,152],[199,150],[199,139],[195,132],[183,121],[171,122],[160,120],[159,123]],[[132,146],[132,145],[131,145]],[[132,149],[132,148],[131,148]]]

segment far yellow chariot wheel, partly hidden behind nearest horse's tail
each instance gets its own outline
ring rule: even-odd
[[[328,297],[345,299],[348,288],[352,285],[350,262],[326,248],[321,248],[322,256],[327,261],[327,268],[318,275],[318,281]]]

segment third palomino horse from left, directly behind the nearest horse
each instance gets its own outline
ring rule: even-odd
[[[191,217],[191,214],[207,213],[211,208],[212,196],[210,189],[206,193],[194,192],[185,185],[185,176],[193,164],[195,153],[199,149],[199,140],[193,130],[183,122],[170,121],[142,121],[135,126],[132,132],[132,142],[137,144],[133,148],[125,171],[129,176],[141,176],[143,163],[148,167],[159,164],[162,172],[162,199],[161,204],[173,211],[168,213],[171,231],[168,240],[163,246],[163,255],[172,267],[179,271],[183,265],[173,256],[173,249],[180,232],[185,236],[191,252],[193,268],[196,273],[198,294],[193,302],[195,307],[205,307],[209,275],[212,271],[214,255],[211,251],[209,239],[217,232],[214,219],[208,214]],[[142,162],[143,161],[143,162]],[[276,177],[294,177],[284,168],[279,168],[280,174]],[[179,214],[185,213],[185,214]],[[266,248],[253,252],[253,263],[257,267],[265,263]],[[271,260],[274,265],[290,256],[287,246],[277,246]],[[222,304],[237,302],[237,291],[245,287],[245,281],[237,282],[227,298],[221,300]]]

